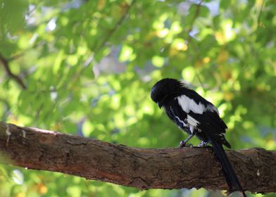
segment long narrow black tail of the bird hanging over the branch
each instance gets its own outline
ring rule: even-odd
[[[230,187],[230,191],[235,191],[235,190],[242,191],[243,196],[246,197],[246,194],[244,193],[244,190],[242,189],[242,186],[239,183],[239,179],[237,178],[237,175],[233,170],[230,160],[227,158],[227,155],[225,153],[225,150],[222,147],[222,144],[218,143],[218,141],[214,139],[211,139],[210,142],[213,146],[215,155],[217,156],[218,161],[222,166],[222,172],[225,175],[225,179],[228,186]]]

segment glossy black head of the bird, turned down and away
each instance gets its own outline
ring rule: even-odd
[[[160,80],[151,89],[151,99],[161,108],[166,101],[177,96],[177,92],[183,86],[184,84],[179,80],[170,78]]]

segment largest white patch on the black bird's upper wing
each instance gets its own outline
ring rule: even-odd
[[[197,104],[192,98],[189,98],[186,95],[177,97],[177,100],[182,110],[184,110],[186,113],[189,113],[190,110],[192,110],[193,113],[199,114],[202,114],[204,111],[206,111],[206,107],[202,103]]]

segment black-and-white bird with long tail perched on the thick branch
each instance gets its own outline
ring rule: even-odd
[[[210,143],[222,167],[225,181],[229,186],[228,191],[230,193],[241,191],[246,197],[222,147],[224,145],[231,148],[231,145],[225,139],[227,125],[220,118],[218,108],[189,88],[182,80],[172,78],[156,82],[151,89],[151,99],[157,103],[159,108],[163,108],[172,122],[189,134],[187,139],[180,142],[180,146],[188,146],[187,142],[193,136],[201,140],[199,146],[207,146]]]

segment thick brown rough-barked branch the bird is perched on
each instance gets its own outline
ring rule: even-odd
[[[0,151],[20,167],[139,189],[227,189],[212,148],[134,148],[0,122]],[[244,189],[276,191],[276,151],[250,148],[227,155]]]

